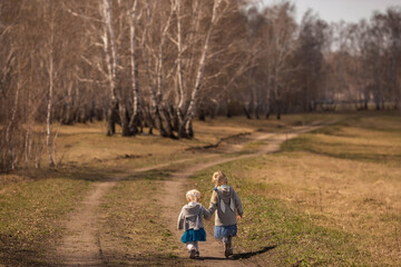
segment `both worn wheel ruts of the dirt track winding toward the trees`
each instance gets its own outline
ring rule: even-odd
[[[255,157],[264,155],[267,152],[274,152],[280,149],[280,144],[286,139],[294,138],[301,132],[306,132],[313,130],[315,127],[300,128],[296,130],[296,134],[253,134],[251,141],[266,140],[268,145],[265,146],[260,151],[256,151],[252,155],[243,155],[233,158],[222,158],[222,154],[206,154],[199,157],[207,157],[208,159],[214,159],[206,164],[196,164],[192,165],[187,169],[183,169],[173,175],[172,179],[166,180],[165,189],[167,192],[166,201],[164,202],[164,216],[169,221],[172,233],[176,233],[177,240],[179,240],[180,233],[178,234],[175,229],[176,227],[176,217],[183,205],[183,196],[186,190],[184,188],[186,178],[194,175],[196,171],[202,169],[228,162],[232,160],[238,160],[248,157]],[[224,149],[225,154],[232,154],[241,150],[241,146],[233,145],[227,146]],[[182,164],[186,160],[172,161],[167,164],[162,164],[157,166],[146,167],[141,169],[133,170],[133,172],[147,171],[151,169],[158,169],[167,167],[172,164]],[[101,202],[102,197],[107,191],[115,187],[124,176],[113,177],[110,181],[96,182],[94,189],[80,204],[79,208],[69,217],[66,224],[66,235],[61,239],[61,244],[58,246],[56,251],[56,257],[58,261],[61,261],[61,266],[104,266],[102,259],[102,249],[101,243],[99,239],[98,230],[98,215],[97,208]],[[208,233],[208,237],[213,237],[212,233]],[[185,249],[183,248],[183,251]],[[202,254],[207,256],[204,258],[202,266],[243,266],[238,260],[226,260],[222,257],[222,246],[214,238],[208,238],[208,241],[202,244]],[[187,256],[187,255],[186,255]],[[223,260],[222,260],[223,259]],[[248,264],[247,264],[248,265]]]

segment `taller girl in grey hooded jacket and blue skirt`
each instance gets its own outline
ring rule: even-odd
[[[234,188],[228,186],[228,178],[222,172],[213,174],[212,181],[215,184],[213,189],[209,211],[215,216],[214,236],[224,244],[224,255],[233,255],[232,238],[237,234],[237,219],[241,219],[244,211],[238,195]]]

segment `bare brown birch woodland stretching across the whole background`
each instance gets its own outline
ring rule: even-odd
[[[198,116],[399,108],[401,9],[327,24],[290,2],[0,1],[0,170],[52,166],[52,123],[194,136]],[[38,128],[38,126],[43,126]]]

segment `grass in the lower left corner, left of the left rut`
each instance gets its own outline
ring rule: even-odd
[[[1,181],[0,265],[47,266],[46,250],[62,235],[59,220],[76,208],[89,182],[51,174]]]

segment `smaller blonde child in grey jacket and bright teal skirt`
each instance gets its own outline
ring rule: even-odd
[[[199,257],[198,241],[206,241],[203,218],[208,219],[212,214],[198,202],[200,200],[198,190],[187,191],[186,199],[188,204],[182,208],[177,228],[184,229],[182,241],[187,246],[189,258],[197,258]]]

